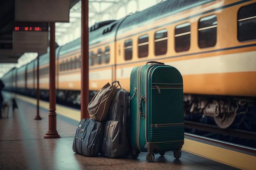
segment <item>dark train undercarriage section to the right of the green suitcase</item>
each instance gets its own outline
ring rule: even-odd
[[[234,125],[235,119],[245,117],[251,113],[255,118],[255,98],[233,96],[209,96],[184,94],[184,116],[198,114],[204,117],[213,117],[220,128],[229,128]],[[241,120],[236,120],[235,123]],[[254,124],[254,122],[249,123]],[[249,125],[250,126],[250,125]],[[248,127],[251,128],[251,127]]]

